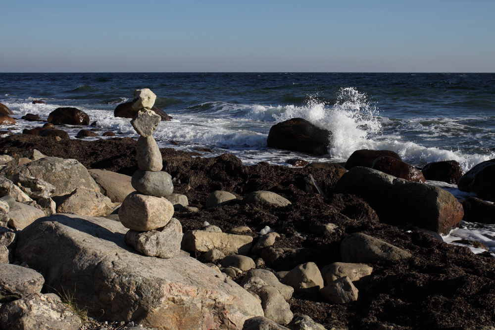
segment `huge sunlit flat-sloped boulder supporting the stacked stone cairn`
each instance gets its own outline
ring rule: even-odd
[[[170,330],[241,329],[263,315],[238,284],[196,259],[143,256],[116,221],[57,214],[25,228],[17,256],[43,269],[47,288],[74,294],[90,316]]]

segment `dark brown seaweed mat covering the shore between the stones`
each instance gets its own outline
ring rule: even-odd
[[[17,135],[0,139],[1,153],[21,157],[38,149],[49,156],[74,158],[87,168],[101,168],[127,175],[137,169],[136,141],[130,138],[99,141],[55,141]],[[383,239],[412,253],[398,262],[373,266],[371,284],[360,291],[360,300],[347,305],[330,304],[319,295],[295,294],[289,301],[295,315],[306,314],[327,328],[380,329],[476,329],[495,325],[495,260],[473,255],[467,247],[449,245],[418,231],[381,224],[374,211],[353,195],[333,194],[337,181],[333,171],[259,164],[244,166],[233,155],[194,158],[187,152],[161,149],[164,171],[181,180],[174,192],[185,193],[198,213],[176,213],[184,230],[200,229],[207,221],[228,232],[248,226],[264,226],[282,234],[275,247],[296,249],[267,265],[274,271],[290,270],[313,261],[321,267],[340,261],[340,242],[351,233]],[[297,188],[301,177],[312,174],[329,200]],[[227,190],[242,198],[250,191],[270,190],[292,201],[287,207],[236,202],[204,209],[213,190]],[[397,214],[400,217],[400,214]],[[332,235],[317,226],[339,226]],[[252,233],[254,239],[258,234]],[[381,328],[384,329],[384,328]]]

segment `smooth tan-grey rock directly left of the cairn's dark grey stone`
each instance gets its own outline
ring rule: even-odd
[[[113,203],[122,203],[128,194],[136,191],[128,175],[99,169],[90,169],[88,172],[99,185],[99,191]]]

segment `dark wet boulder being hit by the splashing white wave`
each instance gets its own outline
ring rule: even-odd
[[[268,146],[324,155],[328,153],[331,132],[318,128],[302,118],[293,118],[270,128]]]

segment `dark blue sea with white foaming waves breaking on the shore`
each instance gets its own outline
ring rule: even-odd
[[[456,160],[464,171],[495,157],[494,73],[0,73],[0,102],[14,112],[17,124],[8,129],[15,134],[40,126],[23,115],[47,118],[70,106],[88,113],[101,133],[137,138],[130,120],[113,111],[142,88],[173,118],[158,125],[158,145],[200,150],[201,157],[228,152],[246,165],[290,166],[289,159],[337,163],[358,149],[386,149],[414,166]],[[266,145],[273,125],[295,117],[332,132],[327,154]],[[81,129],[63,128],[71,138]],[[459,200],[475,196],[427,184]],[[489,251],[467,245],[495,257],[495,225],[462,222],[443,238],[481,242]]]

